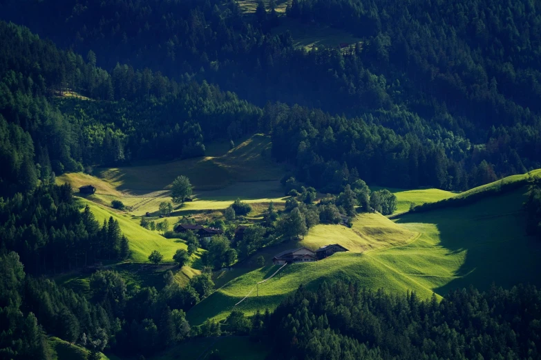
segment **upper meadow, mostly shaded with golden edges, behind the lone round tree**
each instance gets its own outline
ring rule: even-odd
[[[120,200],[136,216],[146,212],[157,215],[160,202],[171,201],[169,187],[181,174],[193,184],[196,201],[177,208],[173,215],[222,210],[237,197],[254,204],[250,216],[258,216],[270,201],[279,209],[285,202],[278,182],[283,169],[269,159],[269,138],[254,135],[234,149],[228,146],[213,143],[207,151],[212,156],[198,159],[99,168],[94,177],[82,172],[63,174],[57,177],[57,183],[70,183],[76,192],[80,186],[91,184],[96,192],[86,199],[102,206]]]

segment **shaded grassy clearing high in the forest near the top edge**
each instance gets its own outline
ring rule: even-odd
[[[255,9],[254,9],[255,11]],[[331,28],[330,26],[318,25],[316,23],[302,23],[295,19],[286,17],[281,18],[281,23],[272,29],[273,34],[281,34],[290,31],[294,46],[312,50],[313,47],[325,46],[336,48],[341,43],[354,45],[362,40],[354,37],[349,32],[341,29]]]

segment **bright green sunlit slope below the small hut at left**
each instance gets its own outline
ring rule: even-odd
[[[118,221],[122,232],[129,240],[130,250],[132,252],[131,259],[133,261],[149,261],[148,257],[152,250],[160,251],[164,256],[164,261],[173,261],[173,254],[175,254],[177,249],[187,249],[185,243],[165,239],[156,232],[142,228],[136,220],[131,219],[127,214],[119,214],[108,210],[86,199],[81,199],[80,201],[90,206],[99,223],[103,223],[104,219],[109,219],[111,216]]]

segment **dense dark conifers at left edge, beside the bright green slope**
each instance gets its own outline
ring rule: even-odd
[[[0,198],[0,248],[17,252],[30,274],[129,257],[129,243],[118,221],[110,217],[99,226],[88,206],[80,211],[67,184]]]

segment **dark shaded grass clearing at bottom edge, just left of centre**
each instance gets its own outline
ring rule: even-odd
[[[184,360],[204,360],[209,358],[213,350],[218,350],[223,360],[263,360],[268,354],[263,344],[253,343],[248,337],[207,337],[182,343],[156,357],[151,357],[151,360],[177,359],[178,354],[182,354]]]

